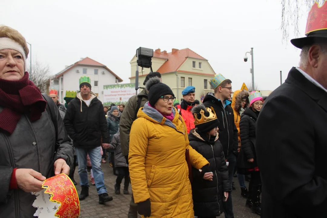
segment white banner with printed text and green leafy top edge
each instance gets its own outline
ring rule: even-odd
[[[128,99],[135,94],[135,83],[104,85],[103,105],[126,104]]]

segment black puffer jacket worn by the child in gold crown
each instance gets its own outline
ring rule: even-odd
[[[192,194],[195,216],[219,216],[223,211],[223,192],[230,192],[228,169],[223,147],[218,136],[211,142],[200,136],[196,129],[191,130],[189,141],[192,148],[210,163],[210,171],[214,173],[213,181],[202,179],[199,170],[193,169]]]

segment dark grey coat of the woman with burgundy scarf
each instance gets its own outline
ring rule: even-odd
[[[58,122],[57,143],[60,146],[56,153],[55,127],[47,110],[42,113],[39,120],[34,122],[23,114],[11,135],[0,130],[1,218],[31,218],[36,211],[32,206],[36,199],[35,195],[21,189],[9,190],[14,168],[33,169],[49,178],[54,176],[53,164],[59,158],[64,159],[72,167],[73,146],[70,144],[57,106],[53,101],[48,103],[49,107],[54,108]],[[0,107],[0,112],[3,109]]]

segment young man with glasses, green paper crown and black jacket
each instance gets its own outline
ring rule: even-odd
[[[223,151],[228,166],[229,180],[232,186],[238,146],[237,128],[234,123],[234,113],[231,107],[232,102],[228,100],[231,98],[233,92],[232,81],[226,79],[221,74],[217,74],[210,80],[210,85],[215,92],[209,92],[204,97],[203,104],[206,108],[213,107],[216,112],[219,121],[219,141],[223,145]],[[223,202],[223,208],[225,218],[234,217],[232,196],[230,196],[226,202]]]

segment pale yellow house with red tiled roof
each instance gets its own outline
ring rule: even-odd
[[[130,61],[131,83],[135,83],[136,56]],[[159,48],[153,52],[152,70],[161,73],[163,83],[167,84],[174,92],[177,99],[183,98],[181,92],[187,86],[194,86],[196,99],[201,95],[212,92],[209,80],[214,77],[215,71],[207,59],[198,55],[189,48],[172,49],[171,52],[161,51]],[[139,82],[143,87],[143,81],[150,69],[139,68]]]

